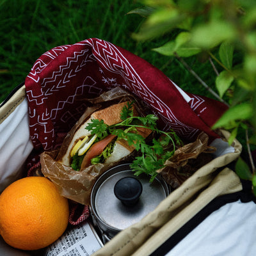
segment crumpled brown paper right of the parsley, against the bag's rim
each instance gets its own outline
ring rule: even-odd
[[[175,150],[174,155],[164,163],[166,167],[158,170],[173,189],[178,188],[196,170],[212,160],[208,153],[215,152],[216,148],[208,146],[208,139],[207,134],[201,132],[194,142]]]

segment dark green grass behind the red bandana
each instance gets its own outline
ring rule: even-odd
[[[144,58],[184,90],[211,97],[179,61],[151,51],[166,42],[167,36],[145,43],[132,39],[131,33],[138,30],[143,18],[126,13],[137,6],[140,4],[132,0],[0,0],[0,102],[25,80],[35,60],[45,51],[93,37]],[[193,65],[196,59],[188,61]],[[211,77],[207,72],[208,65],[202,63],[193,68],[212,84],[214,74]]]

